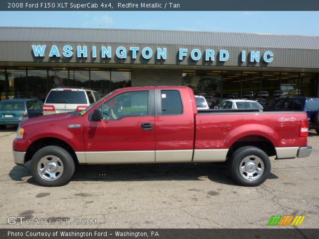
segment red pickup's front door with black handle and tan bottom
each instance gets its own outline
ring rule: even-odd
[[[155,162],[154,90],[119,93],[84,120],[88,164]]]

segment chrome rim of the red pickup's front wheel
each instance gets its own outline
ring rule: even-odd
[[[60,158],[46,155],[39,160],[37,170],[42,179],[54,181],[62,176],[64,168]]]

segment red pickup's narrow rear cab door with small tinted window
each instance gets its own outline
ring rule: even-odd
[[[190,162],[194,129],[189,91],[186,88],[155,90],[155,161]]]

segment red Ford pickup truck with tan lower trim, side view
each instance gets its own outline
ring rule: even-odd
[[[308,157],[304,112],[197,111],[187,87],[137,87],[111,92],[82,112],[20,123],[13,158],[31,160],[34,179],[61,186],[75,164],[224,162],[243,186],[270,173],[269,156]]]

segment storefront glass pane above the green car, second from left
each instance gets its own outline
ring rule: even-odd
[[[7,68],[6,76],[8,80],[8,99],[26,98],[26,68]]]

